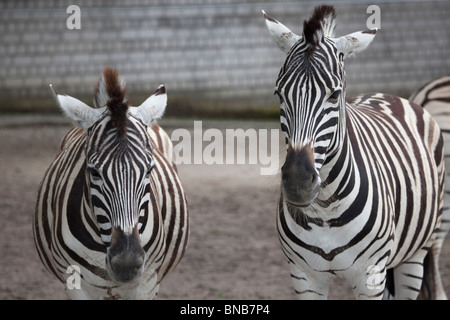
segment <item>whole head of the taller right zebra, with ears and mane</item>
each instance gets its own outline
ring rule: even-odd
[[[263,11],[269,33],[287,54],[276,81],[287,156],[282,172],[286,201],[305,207],[317,197],[320,169],[342,146],[345,134],[344,59],[364,50],[376,30],[334,38],[335,10],[319,6],[296,35]]]

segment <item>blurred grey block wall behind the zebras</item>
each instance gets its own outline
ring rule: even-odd
[[[187,105],[186,112],[201,105],[212,112],[276,107],[272,92],[284,54],[269,38],[261,9],[301,33],[319,3],[2,1],[0,111],[53,108],[49,83],[90,102],[104,66],[119,69],[134,104],[164,83],[169,105]],[[369,4],[381,9],[376,39],[346,63],[349,94],[408,95],[450,72],[450,1],[332,3],[337,36],[366,29]],[[71,4],[80,7],[80,30],[66,27]]]

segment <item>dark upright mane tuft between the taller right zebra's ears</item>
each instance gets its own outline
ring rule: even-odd
[[[303,38],[312,47],[317,46],[324,37],[333,37],[336,28],[336,11],[333,6],[322,5],[314,9],[309,20],[303,22]]]

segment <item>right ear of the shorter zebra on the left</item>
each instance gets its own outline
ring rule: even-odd
[[[147,98],[139,107],[130,108],[130,112],[142,120],[147,126],[160,119],[167,105],[166,87],[160,85],[155,93]]]

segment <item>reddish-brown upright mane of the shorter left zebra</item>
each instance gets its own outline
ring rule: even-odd
[[[112,125],[123,138],[126,129],[128,99],[126,84],[115,69],[104,68],[94,93],[94,107],[108,107]]]

